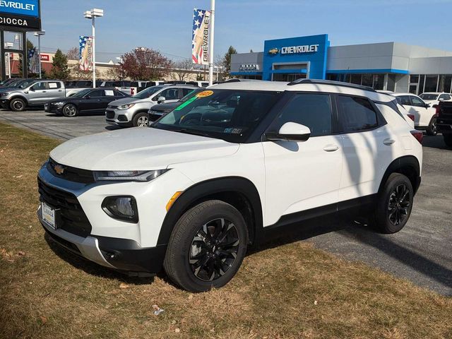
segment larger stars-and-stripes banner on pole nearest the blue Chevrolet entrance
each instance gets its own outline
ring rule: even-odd
[[[191,32],[191,60],[194,64],[209,64],[210,11],[193,10],[193,30]]]

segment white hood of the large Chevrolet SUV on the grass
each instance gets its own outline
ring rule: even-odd
[[[136,127],[73,138],[50,157],[90,170],[164,169],[171,164],[232,155],[237,143],[161,129]]]

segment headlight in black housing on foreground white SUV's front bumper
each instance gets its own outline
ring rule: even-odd
[[[138,222],[138,210],[133,196],[107,196],[102,202],[102,209],[114,219]]]

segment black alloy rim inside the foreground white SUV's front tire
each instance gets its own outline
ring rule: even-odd
[[[213,281],[225,275],[237,258],[239,235],[232,221],[206,222],[191,242],[189,263],[196,278]]]

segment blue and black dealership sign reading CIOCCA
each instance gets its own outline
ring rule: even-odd
[[[40,0],[0,0],[0,27],[40,30]]]

